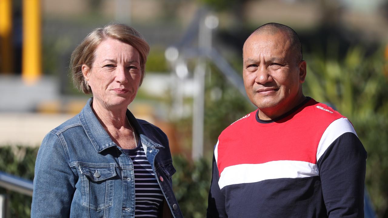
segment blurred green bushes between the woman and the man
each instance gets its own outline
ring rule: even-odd
[[[241,67],[240,67],[241,68]],[[211,158],[218,135],[231,123],[255,110],[235,87],[226,81],[218,69],[210,64],[205,78],[204,157],[194,163],[183,156],[173,157],[177,173],[173,188],[184,217],[206,216],[211,181]],[[180,145],[190,148],[192,117],[178,121]]]

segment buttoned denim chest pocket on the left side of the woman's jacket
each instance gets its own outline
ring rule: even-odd
[[[113,204],[114,167],[80,166],[82,205],[96,211]]]

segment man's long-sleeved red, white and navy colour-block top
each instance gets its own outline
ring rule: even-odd
[[[307,98],[218,137],[207,217],[364,217],[367,153],[350,121]]]

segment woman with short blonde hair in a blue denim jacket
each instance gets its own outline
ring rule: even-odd
[[[93,97],[43,139],[31,217],[183,217],[165,133],[127,109],[148,52],[135,29],[109,24],[71,54],[74,85]]]

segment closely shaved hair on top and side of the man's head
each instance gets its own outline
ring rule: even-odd
[[[300,42],[298,34],[289,26],[279,24],[279,23],[267,23],[263,24],[262,26],[259,26],[251,35],[255,34],[268,34],[268,35],[275,35],[279,33],[279,31],[285,33],[289,41],[291,43],[291,48],[294,50],[296,55],[297,62],[303,60],[303,53],[302,53],[302,43]]]

